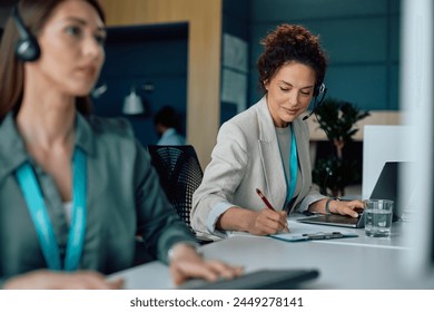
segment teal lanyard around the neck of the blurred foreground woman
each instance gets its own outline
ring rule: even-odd
[[[72,160],[72,217],[69,230],[65,271],[78,269],[86,232],[86,154],[76,148]],[[55,230],[43,202],[42,193],[29,163],[24,163],[17,170],[17,178],[24,196],[30,216],[37,230],[43,257],[50,270],[62,270],[59,246]]]

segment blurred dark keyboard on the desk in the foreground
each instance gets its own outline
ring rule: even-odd
[[[243,274],[233,280],[207,282],[187,281],[179,286],[184,290],[294,290],[302,283],[316,279],[319,272],[314,269],[259,270]]]

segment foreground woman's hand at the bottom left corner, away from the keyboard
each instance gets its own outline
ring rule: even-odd
[[[4,290],[117,290],[122,280],[107,281],[103,275],[93,271],[72,273],[38,270],[9,279]]]

